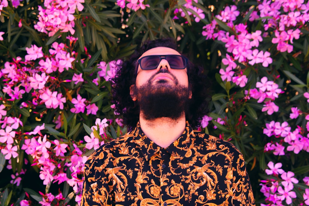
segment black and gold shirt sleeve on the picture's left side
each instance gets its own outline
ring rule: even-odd
[[[98,160],[100,155],[93,154],[85,163],[82,206],[111,206],[109,187]]]

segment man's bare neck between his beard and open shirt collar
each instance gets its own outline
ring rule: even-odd
[[[141,113],[140,125],[144,134],[146,134],[151,141],[166,148],[183,134],[186,127],[186,118],[183,114],[176,120],[168,117],[146,120]]]

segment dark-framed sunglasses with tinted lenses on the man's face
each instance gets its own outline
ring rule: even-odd
[[[163,59],[167,60],[172,69],[184,69],[188,64],[188,59],[186,57],[174,54],[143,56],[138,60],[138,64],[142,70],[152,70],[158,68]]]

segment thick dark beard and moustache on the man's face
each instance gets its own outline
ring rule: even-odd
[[[188,110],[191,90],[179,85],[176,77],[174,77],[175,85],[166,84],[166,80],[159,80],[152,85],[151,79],[141,87],[137,88],[134,85],[133,88],[142,117],[146,120],[160,117],[177,120],[184,116]]]

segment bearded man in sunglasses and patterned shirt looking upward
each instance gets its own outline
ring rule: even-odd
[[[235,146],[192,129],[209,86],[176,48],[148,41],[119,65],[113,101],[131,131],[85,163],[82,205],[255,205]]]

